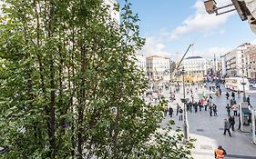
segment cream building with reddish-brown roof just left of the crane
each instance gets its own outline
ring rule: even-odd
[[[150,55],[147,57],[147,75],[149,80],[169,82],[169,58]]]

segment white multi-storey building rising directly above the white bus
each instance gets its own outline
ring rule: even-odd
[[[226,55],[222,55],[222,75],[227,76],[242,76],[244,75],[243,67],[246,67],[246,63],[248,63],[246,58],[246,50],[251,47],[251,44],[245,43],[243,45],[238,46],[237,48],[231,50]]]

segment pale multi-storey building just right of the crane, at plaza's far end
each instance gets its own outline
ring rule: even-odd
[[[183,61],[187,75],[199,77],[207,74],[207,60],[201,56],[190,56]]]

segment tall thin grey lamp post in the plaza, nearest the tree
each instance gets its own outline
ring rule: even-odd
[[[184,104],[184,143],[186,143],[188,140],[189,140],[189,123],[188,123],[188,120],[187,120],[187,100],[186,100],[186,93],[185,93],[185,69],[183,67],[182,69],[182,82],[183,82],[183,104]]]

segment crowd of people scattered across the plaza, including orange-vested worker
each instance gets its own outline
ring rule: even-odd
[[[175,85],[174,89],[172,89],[173,91],[171,91],[171,86],[169,87],[170,103],[169,106],[164,110],[164,116],[169,115],[172,118],[176,114],[179,121],[183,121],[185,110],[188,113],[194,114],[199,112],[208,112],[210,116],[218,115],[218,105],[214,103],[216,100],[213,100],[213,98],[219,98],[221,96],[220,84],[186,84],[185,86],[186,96],[189,97],[189,101],[185,101],[186,106],[184,106],[184,104],[180,104],[178,102],[179,99],[175,99],[175,95],[180,93],[180,85]],[[206,89],[208,89],[208,91],[206,91]],[[206,92],[208,94],[206,94]],[[181,94],[182,93],[183,91]],[[224,95],[227,99],[226,105],[225,103],[221,103],[220,105],[221,107],[226,106],[227,111],[227,117],[225,117],[223,122],[223,134],[229,134],[231,137],[233,131],[236,131],[236,129],[241,129],[240,105],[237,104],[237,100],[241,98],[241,91],[228,91]],[[248,105],[251,105],[250,95],[247,96],[246,102]],[[219,146],[217,149],[215,149],[214,154],[215,157],[222,157],[226,154],[226,151]]]

